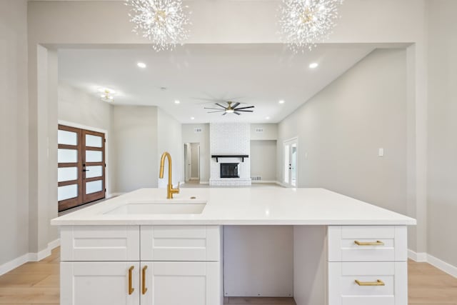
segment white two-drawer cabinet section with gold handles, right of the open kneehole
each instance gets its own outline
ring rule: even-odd
[[[328,226],[328,305],[407,305],[406,226]]]

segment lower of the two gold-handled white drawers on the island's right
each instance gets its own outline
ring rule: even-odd
[[[328,305],[407,305],[406,262],[328,263]],[[359,286],[381,284],[383,286]]]

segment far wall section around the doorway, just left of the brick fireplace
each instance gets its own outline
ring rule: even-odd
[[[201,132],[195,132],[201,129]],[[209,182],[209,124],[182,124],[183,156],[184,143],[200,143],[200,181]],[[183,163],[184,165],[184,163]]]

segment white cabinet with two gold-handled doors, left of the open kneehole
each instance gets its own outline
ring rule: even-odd
[[[220,226],[65,226],[61,305],[222,305]]]

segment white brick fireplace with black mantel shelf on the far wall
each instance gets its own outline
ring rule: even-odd
[[[243,123],[209,124],[209,150],[211,156],[230,157],[211,158],[209,184],[214,186],[249,186],[251,185],[251,159],[235,157],[249,155],[251,129]],[[221,178],[221,163],[237,163],[239,178]]]

